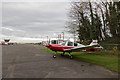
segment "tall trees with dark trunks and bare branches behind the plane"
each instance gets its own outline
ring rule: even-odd
[[[94,5],[94,6],[93,6]],[[80,40],[120,37],[120,2],[72,2],[68,28]],[[73,25],[74,24],[74,25]]]

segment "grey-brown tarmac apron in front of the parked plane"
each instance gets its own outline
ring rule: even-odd
[[[94,64],[43,51],[33,44],[2,46],[3,78],[117,78],[118,73]]]

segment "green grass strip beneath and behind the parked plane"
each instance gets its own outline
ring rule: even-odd
[[[50,49],[42,49],[42,50],[53,53],[53,54],[55,53],[54,51],[51,51]],[[97,64],[111,71],[118,72],[119,71],[118,61],[120,60],[118,56],[108,55],[108,54],[103,54],[103,53],[101,52],[72,52],[71,54],[76,60],[89,62],[91,64]],[[61,52],[58,52],[58,54],[60,55]],[[67,53],[65,54],[65,56],[68,56]]]

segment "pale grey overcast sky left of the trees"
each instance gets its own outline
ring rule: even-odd
[[[69,2],[3,2],[2,37],[18,42],[57,37],[65,31],[69,7]]]

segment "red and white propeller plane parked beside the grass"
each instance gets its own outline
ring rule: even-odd
[[[71,52],[78,52],[78,51],[98,51],[98,49],[103,49],[102,46],[100,46],[97,40],[93,40],[90,45],[82,45],[79,43],[74,43],[71,41],[65,41],[60,44],[48,44],[46,45],[47,48],[51,49],[52,51],[55,51],[57,54],[57,51],[63,52],[61,56],[64,56],[65,52],[69,53],[70,59],[73,58],[71,55]],[[56,54],[53,55],[53,58],[56,58]]]

